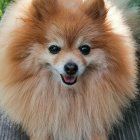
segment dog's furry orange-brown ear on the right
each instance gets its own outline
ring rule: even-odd
[[[93,19],[104,19],[107,14],[104,0],[86,0],[82,5],[82,10]]]

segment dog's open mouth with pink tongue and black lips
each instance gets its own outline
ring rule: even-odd
[[[61,75],[61,78],[67,85],[74,85],[77,82],[77,77],[74,75]]]

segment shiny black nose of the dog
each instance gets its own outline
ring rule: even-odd
[[[64,70],[68,75],[74,75],[78,71],[78,66],[75,63],[67,63]]]

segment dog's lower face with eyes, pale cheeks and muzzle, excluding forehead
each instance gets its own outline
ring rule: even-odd
[[[58,28],[58,33],[60,33],[60,30]],[[92,49],[91,44],[80,37],[69,43],[69,40],[65,38],[65,34],[63,34],[64,36],[62,35],[63,37],[57,37],[56,32],[52,34],[54,38],[51,38],[46,44],[47,49],[40,59],[61,78],[63,83],[73,85],[77,82],[78,77],[84,73],[91,61],[89,59]],[[75,34],[74,36],[76,38],[77,35]]]

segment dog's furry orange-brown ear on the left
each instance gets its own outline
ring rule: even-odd
[[[31,10],[35,18],[43,20],[56,13],[57,8],[57,0],[33,0]]]

